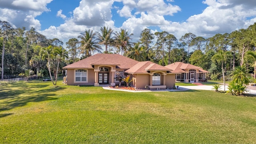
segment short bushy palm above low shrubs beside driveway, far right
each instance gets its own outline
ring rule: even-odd
[[[233,80],[236,83],[242,83],[242,84],[249,84],[249,80],[246,77],[247,76],[247,70],[246,66],[237,66],[233,72]]]

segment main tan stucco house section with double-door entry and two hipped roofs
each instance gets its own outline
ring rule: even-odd
[[[130,75],[137,89],[166,89],[175,84],[175,71],[150,61],[138,62],[120,54],[95,54],[68,66],[68,85],[119,84],[118,76]]]

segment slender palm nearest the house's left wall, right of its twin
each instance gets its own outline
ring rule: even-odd
[[[59,69],[59,64],[62,60],[65,58],[68,58],[68,52],[62,48],[62,46],[58,46],[54,48],[54,53],[56,54],[56,59],[57,59],[57,69],[56,69],[56,78],[55,78],[55,84],[57,84],[57,79],[58,79],[58,69]]]

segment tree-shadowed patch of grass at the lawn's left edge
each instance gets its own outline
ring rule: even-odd
[[[16,107],[25,106],[29,102],[41,102],[46,100],[56,100],[52,96],[56,96],[56,92],[65,89],[64,87],[46,88],[46,84],[31,84],[25,82],[15,83],[11,85],[15,89],[4,88],[0,91],[0,112],[11,110]]]

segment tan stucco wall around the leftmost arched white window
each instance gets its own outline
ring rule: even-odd
[[[95,82],[95,72],[94,69],[85,69],[87,70],[87,80],[88,82],[74,82],[74,74],[75,69],[68,69],[67,70],[67,85],[94,85]]]

